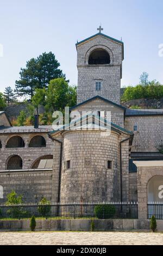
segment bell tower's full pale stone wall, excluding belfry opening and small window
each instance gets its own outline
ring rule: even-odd
[[[110,64],[89,65],[89,55],[97,48],[107,51],[110,55]],[[97,35],[91,40],[77,45],[78,67],[78,96],[77,103],[95,95],[96,80],[102,81],[101,92],[98,95],[116,103],[120,103],[122,44]]]

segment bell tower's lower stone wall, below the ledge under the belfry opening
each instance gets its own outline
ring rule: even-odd
[[[96,81],[102,82],[101,91],[96,91]],[[87,65],[78,67],[77,103],[99,95],[120,103],[121,67],[111,65]]]

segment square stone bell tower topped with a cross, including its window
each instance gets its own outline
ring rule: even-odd
[[[120,104],[123,42],[99,33],[77,42],[77,103],[99,95]]]

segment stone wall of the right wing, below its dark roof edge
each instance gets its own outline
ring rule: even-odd
[[[129,131],[133,131],[134,125],[137,125],[138,131],[134,132],[131,151],[158,151],[159,145],[163,144],[162,115],[126,117],[124,127]]]

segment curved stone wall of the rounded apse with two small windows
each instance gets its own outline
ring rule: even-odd
[[[118,135],[99,131],[72,131],[64,135],[61,202],[120,199]],[[70,169],[65,162],[70,160]],[[106,161],[112,161],[112,169]]]

